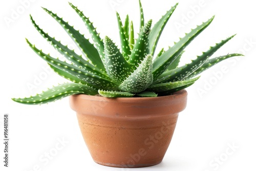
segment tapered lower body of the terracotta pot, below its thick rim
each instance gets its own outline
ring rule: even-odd
[[[113,119],[78,113],[77,118],[94,161],[115,167],[143,167],[162,161],[178,114]]]

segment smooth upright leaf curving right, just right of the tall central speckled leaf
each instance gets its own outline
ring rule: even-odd
[[[150,54],[154,56],[155,50],[158,44],[158,40],[163,32],[165,25],[167,24],[170,16],[172,16],[174,10],[176,9],[178,3],[172,7],[167,13],[162,16],[162,18],[155,24],[150,33]]]

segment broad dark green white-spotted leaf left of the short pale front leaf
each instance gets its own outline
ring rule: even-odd
[[[106,72],[116,83],[121,84],[133,71],[114,42],[105,37]]]

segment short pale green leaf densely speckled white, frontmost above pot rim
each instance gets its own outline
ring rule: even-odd
[[[152,59],[151,55],[147,55],[139,67],[122,82],[119,89],[132,93],[146,90],[153,82]]]

